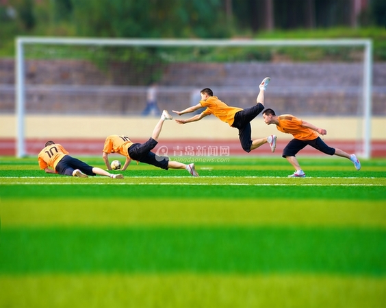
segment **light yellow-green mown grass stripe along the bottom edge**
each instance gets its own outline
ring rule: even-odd
[[[386,307],[368,276],[40,274],[0,276],[0,307]]]

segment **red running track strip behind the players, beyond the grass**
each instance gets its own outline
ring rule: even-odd
[[[27,139],[26,151],[29,155],[38,155],[47,140]],[[55,143],[60,143],[70,152],[71,155],[90,155],[99,156],[102,154],[104,139],[55,139]],[[135,140],[144,142],[145,140]],[[360,149],[356,148],[351,141],[326,141],[331,147],[337,147],[345,152],[357,153]],[[238,139],[219,141],[219,140],[160,140],[153,152],[166,154],[169,156],[281,156],[287,141],[277,141],[276,151],[272,154],[268,144],[262,145],[250,154],[244,152]],[[0,156],[15,156],[16,142],[14,139],[0,138]],[[321,152],[307,146],[299,152],[301,156],[323,156]],[[372,142],[372,157],[386,158],[386,140]]]

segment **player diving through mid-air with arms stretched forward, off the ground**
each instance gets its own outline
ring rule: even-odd
[[[177,113],[177,115],[184,115],[185,113],[194,112],[200,108],[206,107],[206,109],[199,115],[195,115],[194,117],[185,120],[178,119],[176,120],[177,123],[185,124],[195,122],[207,117],[208,115],[214,115],[221,121],[228,123],[229,126],[239,130],[240,143],[245,152],[249,153],[264,143],[269,143],[272,152],[274,152],[274,149],[276,148],[276,136],[271,135],[266,138],[252,140],[252,130],[250,128],[250,121],[255,119],[255,117],[257,117],[257,115],[259,115],[259,113],[264,109],[264,91],[266,91],[269,82],[269,77],[263,79],[259,85],[260,91],[256,99],[257,104],[250,108],[242,109],[228,106],[224,102],[221,102],[217,96],[213,96],[213,91],[211,91],[210,88],[204,88],[201,91],[201,101],[196,106],[186,108],[182,111],[172,111]]]

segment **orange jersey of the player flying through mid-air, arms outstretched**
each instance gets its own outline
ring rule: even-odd
[[[203,111],[205,115],[214,115],[221,121],[228,123],[229,126],[232,126],[233,121],[235,121],[236,112],[242,110],[242,108],[228,106],[221,102],[217,96],[208,97],[206,101],[200,101],[200,104],[203,107],[207,107]]]

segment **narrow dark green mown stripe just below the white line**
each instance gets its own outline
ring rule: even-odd
[[[75,179],[76,180],[76,179]],[[79,179],[78,179],[79,180]],[[88,180],[88,179],[81,179]],[[108,179],[107,179],[108,180]],[[302,180],[302,179],[294,179]],[[111,181],[110,181],[111,182]],[[369,186],[232,186],[224,189],[220,185],[202,189],[193,185],[1,185],[0,198],[272,198],[323,199],[323,200],[386,200],[386,187]],[[210,189],[209,189],[210,187]],[[210,201],[207,201],[210,203]]]

